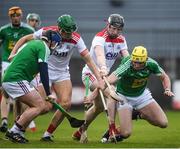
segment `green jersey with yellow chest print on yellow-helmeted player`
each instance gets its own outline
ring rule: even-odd
[[[162,72],[164,70],[151,58],[148,58],[144,69],[134,70],[130,56],[128,56],[122,60],[122,63],[113,72],[118,77],[116,91],[125,96],[139,96],[145,90],[149,76],[151,74],[159,76]]]

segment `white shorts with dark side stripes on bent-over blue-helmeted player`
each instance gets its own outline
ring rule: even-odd
[[[12,99],[23,96],[34,90],[34,87],[31,87],[30,83],[26,80],[19,82],[3,82],[2,87]]]

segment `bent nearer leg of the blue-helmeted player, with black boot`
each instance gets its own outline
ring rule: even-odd
[[[7,132],[6,137],[19,143],[26,143],[27,139],[24,138],[24,132],[28,127],[29,123],[38,115],[46,113],[48,109],[46,108],[45,101],[35,90],[24,96],[19,97],[18,100],[27,104],[29,108],[27,108],[21,114],[13,127]]]

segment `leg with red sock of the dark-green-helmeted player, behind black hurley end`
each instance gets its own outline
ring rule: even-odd
[[[56,93],[58,103],[66,110],[71,107],[71,95],[72,95],[72,83],[70,80],[64,80],[53,84],[54,91]],[[64,115],[57,110],[48,126],[48,129],[44,133],[43,141],[52,141],[51,136],[56,128],[61,124],[64,119]]]

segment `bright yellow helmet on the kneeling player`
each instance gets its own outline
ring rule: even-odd
[[[134,47],[131,54],[131,61],[145,63],[148,59],[147,49],[143,46]]]

